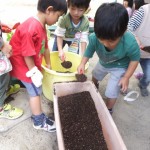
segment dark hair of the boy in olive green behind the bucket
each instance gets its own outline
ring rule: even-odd
[[[67,0],[68,7],[69,6],[76,6],[78,8],[85,8],[89,7],[91,0]]]

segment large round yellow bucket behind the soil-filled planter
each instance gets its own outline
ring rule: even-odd
[[[44,96],[53,100],[53,83],[55,82],[64,82],[64,81],[74,81],[76,80],[75,74],[77,73],[77,67],[79,66],[82,57],[78,54],[65,52],[66,61],[72,62],[72,67],[65,69],[61,65],[61,60],[58,57],[58,52],[51,52],[51,70],[45,67],[45,61],[43,59],[42,68],[43,68],[43,83],[42,89]],[[85,70],[88,69],[89,63],[87,63]]]

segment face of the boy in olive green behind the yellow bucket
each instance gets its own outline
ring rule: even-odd
[[[85,11],[86,11],[85,8],[69,6],[69,12],[70,12],[70,15],[71,15],[73,21],[79,21]]]

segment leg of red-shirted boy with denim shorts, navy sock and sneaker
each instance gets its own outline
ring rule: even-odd
[[[23,82],[25,85],[28,94],[30,96],[30,107],[32,111],[32,120],[33,127],[35,129],[42,129],[48,132],[55,132],[55,122],[48,117],[44,113],[42,113],[41,109],[41,99],[40,95],[42,93],[42,87],[36,87],[33,83]]]

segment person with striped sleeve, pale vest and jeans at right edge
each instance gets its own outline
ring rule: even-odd
[[[139,46],[141,48],[140,65],[143,70],[143,77],[139,81],[139,87],[142,96],[148,96],[149,92],[147,87],[150,83],[150,53],[143,51],[146,46],[150,46],[150,4],[143,5],[132,16],[128,24],[128,30],[135,34],[139,40]]]

